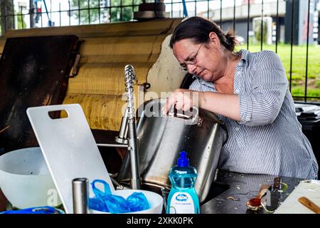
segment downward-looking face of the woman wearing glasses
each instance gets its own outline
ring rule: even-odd
[[[209,43],[194,43],[189,38],[177,41],[173,47],[174,56],[188,73],[206,81],[216,81],[225,73],[225,63],[228,61],[218,40],[215,35]]]

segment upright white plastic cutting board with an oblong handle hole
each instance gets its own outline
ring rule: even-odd
[[[50,111],[65,110],[68,118],[51,119]],[[86,177],[105,180],[114,192],[107,168],[79,104],[27,109],[36,138],[66,213],[73,213],[72,181]],[[90,197],[93,197],[91,185]]]

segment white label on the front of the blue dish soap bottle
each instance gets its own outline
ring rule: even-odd
[[[170,214],[194,214],[194,203],[187,192],[176,192],[171,198]]]

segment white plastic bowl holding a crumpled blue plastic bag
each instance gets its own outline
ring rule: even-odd
[[[119,195],[124,197],[124,199],[127,199],[127,197],[129,197],[129,195],[132,195],[132,193],[134,192],[142,192],[146,196],[146,199],[149,202],[150,208],[145,209],[143,211],[128,212],[123,214],[161,214],[164,198],[162,198],[161,195],[155,192],[150,192],[146,190],[117,190],[117,191],[114,191],[114,195]],[[91,211],[91,214],[110,214],[109,212],[101,212],[94,209],[91,209],[90,211]]]

